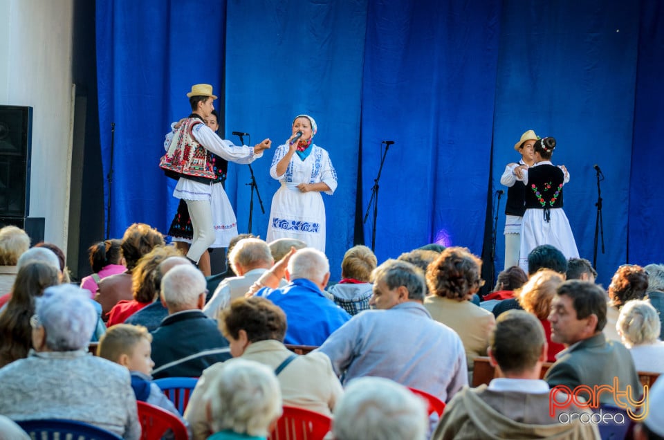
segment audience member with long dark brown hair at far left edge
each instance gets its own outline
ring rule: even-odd
[[[35,314],[35,297],[59,284],[59,271],[44,262],[28,262],[19,269],[12,297],[0,313],[0,367],[28,356],[33,347],[30,317]]]

